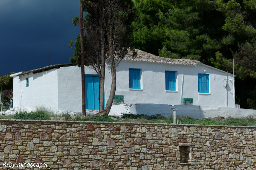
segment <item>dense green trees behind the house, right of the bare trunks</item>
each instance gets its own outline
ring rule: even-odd
[[[252,53],[255,48],[255,0],[133,1],[133,46],[140,50],[160,57],[199,60],[232,73],[233,52],[238,54],[243,47]],[[242,55],[235,63],[236,101],[242,108],[247,108],[247,101],[251,105],[246,96],[252,97],[256,89],[245,87],[245,82],[255,78],[253,61],[253,55]]]

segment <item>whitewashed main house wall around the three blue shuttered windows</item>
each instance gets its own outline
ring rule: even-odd
[[[141,69],[141,88],[129,89],[129,68]],[[203,72],[206,70],[206,72]],[[116,69],[116,94],[124,95],[125,103],[181,104],[181,98],[193,98],[194,105],[226,107],[226,88],[223,81],[227,79],[221,72],[204,65],[175,66],[156,63],[122,61]],[[165,71],[177,71],[176,91],[165,90]],[[210,93],[198,93],[198,74],[209,74]],[[106,71],[105,99],[110,93],[110,71]],[[228,79],[232,75],[228,74]],[[228,107],[235,107],[233,98],[233,81],[228,81]]]

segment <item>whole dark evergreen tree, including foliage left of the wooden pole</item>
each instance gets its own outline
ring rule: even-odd
[[[131,22],[134,6],[131,0],[83,0],[84,11],[87,12],[85,27],[85,63],[90,65],[100,77],[99,104],[104,109],[105,60],[108,61],[112,76],[110,95],[105,109],[109,113],[116,89],[115,69],[127,53],[131,42]],[[79,24],[78,17],[72,20]],[[75,44],[72,63],[78,63],[81,55],[79,38]],[[73,41],[71,41],[72,47]],[[77,49],[76,49],[77,46]],[[80,53],[79,53],[80,52]]]

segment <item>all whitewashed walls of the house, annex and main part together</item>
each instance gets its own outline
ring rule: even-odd
[[[107,65],[106,65],[107,66]],[[141,89],[129,89],[129,68],[141,69]],[[206,72],[203,72],[205,70]],[[165,71],[177,72],[176,91],[165,90]],[[198,74],[209,74],[210,93],[198,93]],[[85,67],[85,74],[96,72]],[[178,105],[182,97],[193,98],[194,105],[226,107],[226,73],[205,65],[184,66],[156,63],[122,61],[116,69],[116,93],[124,95],[124,102]],[[26,78],[29,86],[26,87]],[[232,75],[228,75],[228,107],[235,107]],[[47,107],[60,111],[82,111],[81,68],[61,67],[41,73],[29,73],[14,77],[14,105],[20,106],[20,83],[22,107],[35,109]],[[105,103],[111,88],[111,73],[106,67]]]

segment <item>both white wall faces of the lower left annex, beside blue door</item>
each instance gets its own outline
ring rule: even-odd
[[[85,74],[96,72],[85,67]],[[21,75],[21,82],[18,76],[13,77],[13,108],[19,108],[21,100],[22,110],[45,107],[54,111],[82,112],[81,68],[78,66]],[[26,78],[29,78],[28,87]]]

